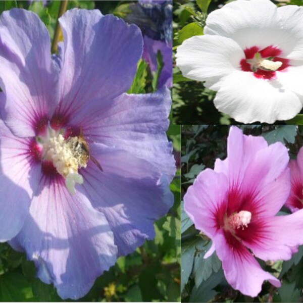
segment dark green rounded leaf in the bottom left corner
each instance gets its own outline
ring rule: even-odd
[[[32,288],[27,279],[19,273],[6,273],[0,276],[0,301],[31,301]]]

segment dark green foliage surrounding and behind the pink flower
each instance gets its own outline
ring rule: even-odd
[[[303,127],[295,125],[241,125],[244,134],[264,136],[268,142],[277,141],[286,145],[291,158],[295,158],[303,146]],[[181,192],[184,195],[197,174],[205,168],[214,168],[217,158],[226,158],[226,143],[229,126],[183,125],[181,148]],[[287,215],[286,208],[278,215]],[[295,232],[295,231],[294,231]],[[181,297],[183,302],[299,302],[303,296],[303,245],[289,261],[260,262],[264,270],[282,281],[281,288],[268,282],[256,298],[242,295],[227,283],[221,262],[216,253],[204,259],[211,240],[199,230],[184,211],[181,203]],[[274,247],[273,247],[274,249]]]

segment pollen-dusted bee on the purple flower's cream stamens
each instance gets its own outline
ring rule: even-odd
[[[96,167],[103,171],[100,163],[89,154],[89,146],[83,136],[83,130],[80,126],[80,133],[78,136],[69,137],[66,141],[72,150],[73,156],[77,159],[78,165],[80,167],[86,167],[88,160],[91,160]]]

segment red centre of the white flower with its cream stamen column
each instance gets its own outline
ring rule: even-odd
[[[276,71],[284,71],[289,66],[289,60],[279,57],[281,49],[272,45],[260,49],[252,46],[244,49],[245,59],[240,61],[241,70],[252,72],[256,78],[273,79]]]

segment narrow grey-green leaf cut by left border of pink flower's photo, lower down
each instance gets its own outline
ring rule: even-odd
[[[195,243],[196,243],[196,240],[191,241],[191,242],[184,242],[184,243],[182,241],[182,246],[181,246],[181,291],[183,290],[185,284],[187,283],[191,270],[192,270],[194,252],[195,252]]]

